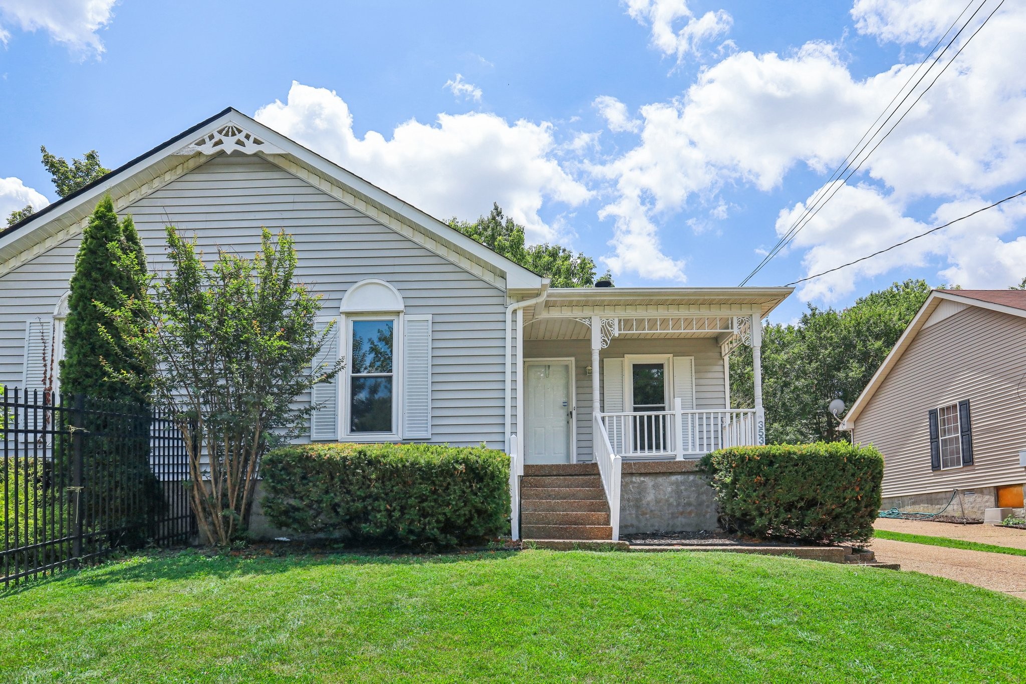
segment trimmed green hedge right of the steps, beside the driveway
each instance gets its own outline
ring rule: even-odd
[[[703,459],[727,526],[758,537],[865,541],[880,508],[883,457],[847,442],[721,449]]]

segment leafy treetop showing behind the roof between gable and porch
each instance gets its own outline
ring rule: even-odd
[[[506,216],[498,202],[487,216],[473,223],[453,217],[448,225],[525,269],[551,278],[552,287],[595,284],[595,259],[582,252],[575,254],[561,245],[526,245],[524,227]],[[608,271],[600,279],[613,280]]]

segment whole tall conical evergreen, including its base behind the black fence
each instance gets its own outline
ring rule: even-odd
[[[123,530],[111,537],[112,546],[145,544],[163,501],[150,469],[148,369],[117,331],[107,329],[103,309],[117,306],[123,292],[139,291],[144,283],[136,278],[145,269],[131,216],[119,222],[110,196],[104,197],[75,257],[58,372],[65,405],[89,409],[63,417],[89,433],[82,454],[89,482],[85,506],[97,529]],[[127,383],[112,374],[112,367],[141,381]]]

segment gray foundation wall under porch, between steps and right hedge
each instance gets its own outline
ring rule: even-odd
[[[715,530],[715,491],[694,460],[625,461],[620,533]]]

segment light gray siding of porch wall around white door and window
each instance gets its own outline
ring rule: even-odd
[[[625,354],[670,354],[672,356],[695,357],[695,408],[726,408],[726,393],[723,387],[723,359],[719,346],[713,338],[666,338],[618,337],[599,354],[601,380],[602,360],[623,358]],[[576,365],[575,391],[577,393],[577,458],[591,460],[592,457],[592,378],[586,368],[591,365],[590,339],[525,339],[524,360],[548,358],[574,358]]]

